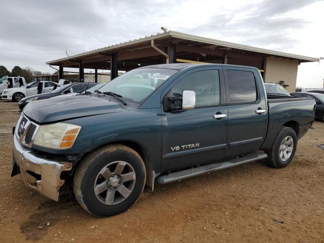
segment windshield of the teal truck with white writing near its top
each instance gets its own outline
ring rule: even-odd
[[[99,91],[113,92],[123,97],[123,100],[141,104],[176,72],[177,70],[164,68],[134,69],[111,80]]]

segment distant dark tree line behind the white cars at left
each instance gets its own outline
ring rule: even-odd
[[[24,77],[26,82],[30,83],[32,82],[33,76],[51,75],[51,73],[33,70],[30,67],[21,68],[19,66],[14,66],[14,68],[9,71],[5,66],[0,65],[0,78],[7,75],[12,77]]]

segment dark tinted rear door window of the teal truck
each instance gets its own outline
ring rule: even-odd
[[[249,103],[257,100],[257,87],[253,72],[227,70],[229,103]]]

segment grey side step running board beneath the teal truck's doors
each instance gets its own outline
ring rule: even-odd
[[[159,184],[167,184],[170,182],[183,180],[186,178],[202,175],[205,173],[219,171],[219,170],[223,170],[223,169],[234,167],[234,166],[239,166],[239,165],[246,164],[246,163],[249,163],[249,162],[252,162],[255,160],[264,159],[267,157],[268,157],[268,155],[263,152],[262,153],[253,153],[253,154],[247,155],[245,157],[234,158],[234,159],[223,161],[220,163],[215,163],[215,164],[211,164],[211,165],[195,167],[195,168],[190,168],[190,169],[187,169],[184,171],[177,171],[174,173],[170,173],[168,175],[158,177],[156,179],[156,181]]]

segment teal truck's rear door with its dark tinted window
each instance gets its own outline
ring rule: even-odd
[[[265,138],[268,120],[260,74],[252,68],[223,69],[228,103],[226,156],[258,150]]]

